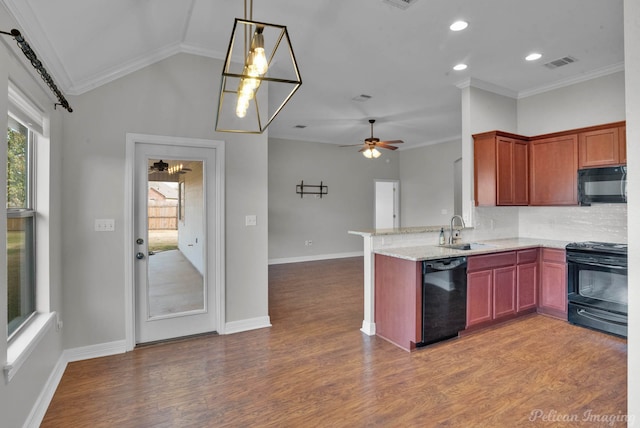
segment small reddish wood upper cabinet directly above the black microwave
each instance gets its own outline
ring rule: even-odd
[[[594,168],[620,164],[619,128],[581,132],[579,168]]]

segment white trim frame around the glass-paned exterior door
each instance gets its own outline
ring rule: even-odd
[[[225,235],[224,235],[224,213],[225,213],[225,196],[224,196],[224,165],[225,165],[225,144],[224,141],[204,140],[197,138],[184,137],[167,137],[161,135],[147,134],[126,134],[125,147],[125,212],[124,212],[124,267],[125,267],[125,343],[126,351],[131,351],[136,345],[135,335],[135,236],[134,236],[134,219],[135,219],[135,146],[136,143],[147,144],[164,144],[171,146],[199,147],[216,150],[216,201],[215,201],[215,242],[216,266],[214,269],[215,277],[214,290],[216,294],[216,314],[218,333],[224,334],[225,328]]]

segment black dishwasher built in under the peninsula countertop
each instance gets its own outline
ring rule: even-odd
[[[422,342],[458,336],[467,324],[467,258],[422,262]]]

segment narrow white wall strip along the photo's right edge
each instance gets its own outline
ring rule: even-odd
[[[627,155],[629,166],[629,355],[627,411],[640,426],[640,2],[624,1]]]

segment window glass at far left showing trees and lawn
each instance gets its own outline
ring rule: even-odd
[[[8,337],[35,313],[35,211],[31,156],[34,134],[9,116],[7,129]]]

